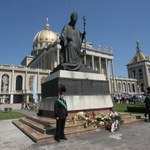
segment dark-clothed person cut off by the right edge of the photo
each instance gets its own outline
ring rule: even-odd
[[[148,114],[148,121],[150,122],[150,87],[147,88],[147,95],[145,97],[145,117]]]

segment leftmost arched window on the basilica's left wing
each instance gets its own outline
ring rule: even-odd
[[[9,76],[7,74],[4,74],[1,80],[1,91],[8,92],[8,89],[9,89]]]

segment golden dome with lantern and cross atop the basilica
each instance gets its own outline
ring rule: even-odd
[[[39,31],[33,39],[32,55],[37,55],[40,50],[46,48],[48,45],[53,44],[58,39],[58,34],[50,30],[48,19],[44,30]]]

